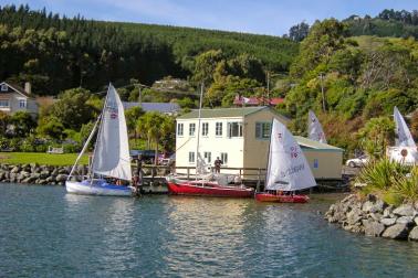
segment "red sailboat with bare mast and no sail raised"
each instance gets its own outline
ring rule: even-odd
[[[230,181],[229,175],[212,174],[207,171],[207,165],[199,151],[200,139],[200,118],[201,104],[203,96],[203,86],[200,89],[200,105],[197,130],[197,146],[196,146],[196,180],[186,181],[176,179],[175,177],[167,177],[167,188],[170,194],[175,195],[199,195],[199,196],[227,196],[227,197],[251,197],[254,194],[254,189],[247,188],[243,184],[228,185]]]

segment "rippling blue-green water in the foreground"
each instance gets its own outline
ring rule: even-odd
[[[417,277],[418,244],[323,220],[332,200],[65,194],[0,184],[0,277]]]

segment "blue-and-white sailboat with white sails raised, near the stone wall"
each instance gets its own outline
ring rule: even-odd
[[[90,175],[83,181],[76,181],[73,179],[74,169],[96,130],[98,131]],[[117,182],[106,181],[104,177],[116,179]],[[128,136],[124,107],[116,89],[109,84],[103,111],[75,160],[65,188],[69,193],[74,194],[129,196],[129,186],[117,185],[123,180],[132,180]]]

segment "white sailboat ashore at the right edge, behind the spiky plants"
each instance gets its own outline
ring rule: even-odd
[[[396,142],[395,147],[388,148],[387,156],[393,161],[416,164],[418,162],[417,146],[403,115],[396,106],[394,107],[394,120]]]

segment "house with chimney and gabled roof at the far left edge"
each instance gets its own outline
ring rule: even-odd
[[[0,110],[7,114],[27,111],[38,115],[38,104],[31,94],[31,84],[27,82],[24,89],[7,82],[0,83]]]

